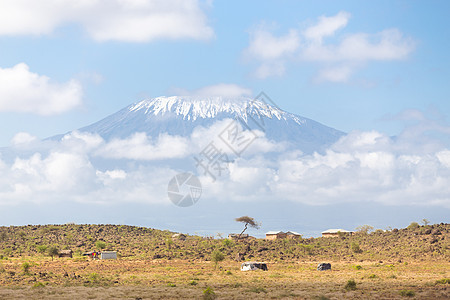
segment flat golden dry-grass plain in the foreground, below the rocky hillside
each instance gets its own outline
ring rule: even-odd
[[[242,272],[233,261],[18,258],[2,262],[0,299],[450,299],[448,261],[318,263]]]

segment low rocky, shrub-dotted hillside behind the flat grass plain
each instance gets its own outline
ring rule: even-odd
[[[28,225],[0,227],[0,258],[46,255],[51,246],[115,250],[122,259],[209,260],[218,249],[232,260],[449,260],[450,224],[409,226],[336,238],[229,240],[189,236],[126,225]]]

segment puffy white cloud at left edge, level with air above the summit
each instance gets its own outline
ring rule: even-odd
[[[82,87],[76,80],[53,82],[20,63],[0,68],[0,111],[54,115],[73,109],[82,102]]]

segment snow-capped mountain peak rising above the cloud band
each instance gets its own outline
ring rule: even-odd
[[[209,127],[223,119],[238,119],[266,138],[284,142],[304,153],[321,151],[343,132],[276,107],[261,99],[224,97],[158,97],[143,100],[99,122],[79,129],[105,140],[126,138],[136,132],[150,137],[161,133],[188,136],[197,126]]]

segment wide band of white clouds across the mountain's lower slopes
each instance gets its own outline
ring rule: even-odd
[[[152,139],[141,133],[105,141],[73,132],[45,153],[19,151],[15,159],[0,159],[0,204],[68,199],[169,205],[167,184],[181,171],[182,159],[189,166],[182,171],[199,175],[204,201],[450,208],[450,150],[423,138],[429,130],[447,132],[444,125],[424,123],[428,131],[416,131],[415,136],[355,131],[325,152],[311,155],[277,145],[258,132],[259,138],[238,156],[217,138],[230,121],[198,127],[189,137]],[[23,133],[17,141],[36,143]],[[194,162],[209,142],[229,158],[226,172],[216,180],[197,170]]]

